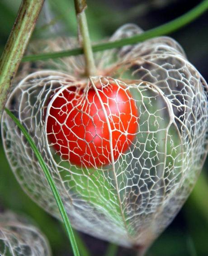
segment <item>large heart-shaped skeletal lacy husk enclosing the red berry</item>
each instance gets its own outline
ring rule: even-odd
[[[137,33],[142,30],[127,24],[110,40]],[[202,169],[208,86],[168,37],[95,58],[102,76],[89,80],[81,78],[81,56],[39,63],[67,74],[26,76],[6,106],[35,141],[76,229],[123,246],[148,246],[178,213]],[[24,191],[60,217],[33,151],[6,114],[2,137]]]

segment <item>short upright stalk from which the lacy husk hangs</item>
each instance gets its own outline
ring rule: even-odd
[[[85,74],[87,76],[95,76],[96,67],[93,57],[92,45],[90,42],[87,19],[85,15],[87,4],[85,0],[74,0],[74,3],[76,9],[76,19],[78,23],[78,38],[85,54]]]

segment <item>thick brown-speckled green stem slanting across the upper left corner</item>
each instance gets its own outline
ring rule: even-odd
[[[44,0],[23,0],[0,59],[0,117]]]

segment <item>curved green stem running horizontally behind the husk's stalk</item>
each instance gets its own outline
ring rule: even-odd
[[[206,10],[208,10],[208,0],[203,0],[199,5],[194,7],[192,10],[190,10],[186,14],[164,25],[161,25],[154,29],[147,30],[142,34],[138,34],[129,38],[124,38],[124,39],[116,40],[114,42],[100,43],[100,44],[94,45],[92,46],[92,50],[93,52],[99,52],[99,51],[104,51],[112,48],[119,48],[119,47],[123,47],[124,45],[139,43],[156,36],[170,34],[171,32],[189,24],[191,21],[193,21],[194,19],[198,18],[201,14],[203,14]],[[83,49],[75,48],[72,50],[60,51],[57,53],[41,53],[37,55],[28,55],[28,56],[25,56],[22,59],[22,61],[26,62],[26,61],[36,61],[36,60],[47,60],[50,58],[62,58],[67,56],[76,56],[80,54],[83,54]]]

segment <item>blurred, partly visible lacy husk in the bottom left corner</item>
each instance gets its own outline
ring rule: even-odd
[[[23,217],[11,212],[0,213],[1,256],[50,256],[43,234]]]

